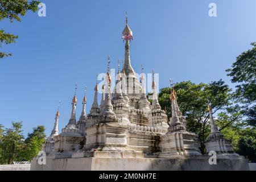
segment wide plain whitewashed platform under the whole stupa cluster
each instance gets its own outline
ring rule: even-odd
[[[236,171],[249,170],[244,158],[217,158],[209,164],[210,156],[189,156],[183,159],[168,158],[65,158],[46,159],[46,164],[31,162],[31,171]]]

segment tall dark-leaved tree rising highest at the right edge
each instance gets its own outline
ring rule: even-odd
[[[234,97],[243,105],[241,112],[246,122],[256,126],[256,43],[251,46],[253,48],[242,52],[226,71],[231,81],[238,84]]]

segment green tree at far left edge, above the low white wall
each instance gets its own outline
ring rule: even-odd
[[[12,127],[5,129],[0,143],[1,164],[11,164],[19,160],[20,153],[24,150],[24,136],[22,134],[22,122],[13,122]]]

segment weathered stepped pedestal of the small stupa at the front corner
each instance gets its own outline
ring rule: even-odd
[[[86,144],[82,150],[73,154],[73,158],[89,156],[96,158],[143,157],[142,151],[135,151],[127,144],[129,130],[127,124],[118,122],[116,117],[99,117],[98,120],[101,122],[86,127]]]

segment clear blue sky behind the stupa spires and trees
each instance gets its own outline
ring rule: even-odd
[[[59,130],[67,125],[75,82],[77,119],[85,85],[89,112],[106,57],[112,68],[124,59],[125,11],[134,33],[131,63],[137,72],[143,64],[144,72],[159,73],[160,88],[170,77],[196,83],[222,78],[230,84],[225,69],[256,41],[255,0],[42,2],[46,17],[27,13],[22,22],[0,23],[19,35],[15,44],[1,48],[13,56],[0,60],[0,123],[23,121],[25,135],[38,125],[49,135],[59,100]],[[210,2],[217,5],[217,17],[208,16]]]

